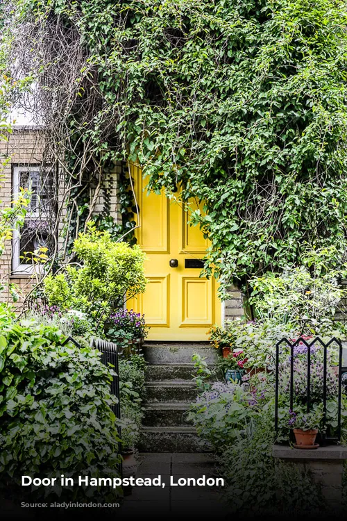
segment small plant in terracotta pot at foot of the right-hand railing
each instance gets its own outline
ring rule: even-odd
[[[310,413],[299,406],[289,409],[289,428],[293,430],[297,449],[316,449],[319,447],[316,436],[323,420],[323,405],[315,406]]]

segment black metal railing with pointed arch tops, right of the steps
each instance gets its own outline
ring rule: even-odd
[[[336,442],[341,438],[341,375],[342,375],[342,343],[341,340],[337,338],[331,338],[328,342],[323,342],[321,338],[316,337],[310,341],[307,339],[300,337],[297,340],[291,341],[287,338],[282,338],[276,345],[276,383],[275,383],[275,429],[276,433],[278,432],[278,400],[279,400],[279,392],[280,392],[280,354],[284,351],[285,354],[288,354],[289,348],[290,353],[290,379],[289,379],[289,408],[291,411],[294,406],[294,348],[299,345],[305,345],[307,347],[307,394],[306,394],[306,408],[307,413],[310,413],[312,408],[312,400],[311,400],[311,348],[314,345],[320,345],[323,347],[323,389],[322,389],[322,402],[323,402],[323,425],[326,424],[327,417],[327,376],[328,376],[328,347],[332,347],[334,344],[337,346],[339,352],[339,365],[338,365],[338,384],[337,384],[337,430],[336,436],[329,436],[330,429],[327,430],[326,433],[323,433],[322,441],[323,442]]]

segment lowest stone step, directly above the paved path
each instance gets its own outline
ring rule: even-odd
[[[211,452],[193,427],[143,427],[141,452]]]

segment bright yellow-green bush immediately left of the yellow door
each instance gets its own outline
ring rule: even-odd
[[[90,222],[87,232],[74,241],[73,251],[82,265],[67,265],[65,273],[44,279],[44,297],[50,306],[88,313],[96,329],[126,298],[144,292],[145,254],[138,246],[113,242],[108,232],[96,230]]]

